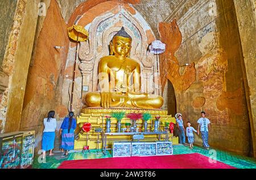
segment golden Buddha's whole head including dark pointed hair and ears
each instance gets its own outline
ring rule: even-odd
[[[114,54],[115,57],[125,59],[129,57],[131,50],[131,41],[132,38],[125,31],[125,28],[121,28],[110,42],[110,54]]]

